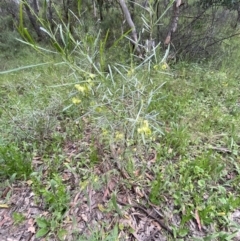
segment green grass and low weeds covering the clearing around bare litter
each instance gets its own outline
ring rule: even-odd
[[[47,212],[34,217],[37,237],[64,240],[72,222],[73,240],[87,240],[90,233],[90,240],[118,240],[123,230],[133,232],[120,225],[117,203],[131,193],[169,217],[175,238],[168,240],[231,240],[238,230],[231,215],[240,207],[235,65],[234,72],[194,63],[171,70],[113,65],[91,76],[91,68],[82,74],[82,67],[26,54],[21,66],[51,64],[1,75],[0,178],[14,176],[6,186],[27,181]],[[17,67],[16,60],[2,70],[6,66]],[[106,186],[107,201],[95,201],[113,221],[89,223],[79,234],[77,217],[69,214],[76,193],[90,207],[92,193]],[[25,219],[21,212],[13,218],[16,225]],[[202,238],[192,220],[204,230]]]

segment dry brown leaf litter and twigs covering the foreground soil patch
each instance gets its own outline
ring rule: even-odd
[[[78,161],[79,153],[89,145],[90,137],[86,142],[67,142],[64,147],[66,159],[61,177],[70,193],[69,206],[62,214],[62,222],[58,227],[64,230],[60,236],[49,230],[46,237],[37,238],[39,229],[37,218],[44,217],[51,220],[52,213],[46,207],[41,196],[34,193],[32,182],[22,181],[9,186],[1,187],[0,194],[0,237],[3,241],[38,241],[38,240],[80,240],[80,237],[93,237],[94,231],[102,232],[102,240],[111,230],[117,230],[116,240],[125,241],[165,241],[175,240],[173,228],[179,227],[181,217],[174,213],[174,205],[169,202],[165,210],[153,205],[149,201],[149,187],[134,182],[123,165],[119,162],[119,151],[111,147],[109,152],[95,143],[98,150],[98,158],[101,160],[91,169],[94,180],[82,180],[72,167],[72,160]],[[147,165],[155,162],[156,151],[153,150],[146,157]],[[136,158],[136,161],[137,158]],[[150,162],[150,164],[149,164]],[[33,159],[34,171],[42,168],[47,173],[44,161],[36,156]],[[136,170],[136,177],[139,172]],[[144,180],[152,180],[154,174],[148,171]],[[128,181],[128,185],[126,184]],[[99,182],[100,184],[95,185]],[[129,187],[129,183],[131,186]],[[11,192],[11,193],[10,193]],[[8,194],[10,197],[6,199]],[[7,200],[7,202],[6,202]],[[21,214],[22,219],[16,222],[13,214]],[[214,227],[209,228],[201,224],[198,210],[195,210],[195,222],[189,221],[190,235],[184,240],[192,240],[192,237],[204,237],[207,233],[214,232]],[[232,215],[232,219],[240,220],[238,212]],[[239,222],[240,223],[240,222]],[[113,235],[113,233],[111,233]],[[239,236],[239,235],[238,235]],[[240,240],[238,236],[234,240]],[[93,239],[94,240],[94,239]]]

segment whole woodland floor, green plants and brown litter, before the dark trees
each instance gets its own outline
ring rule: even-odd
[[[53,46],[1,65],[1,236],[240,240],[237,39],[171,63],[170,47],[43,31]]]

